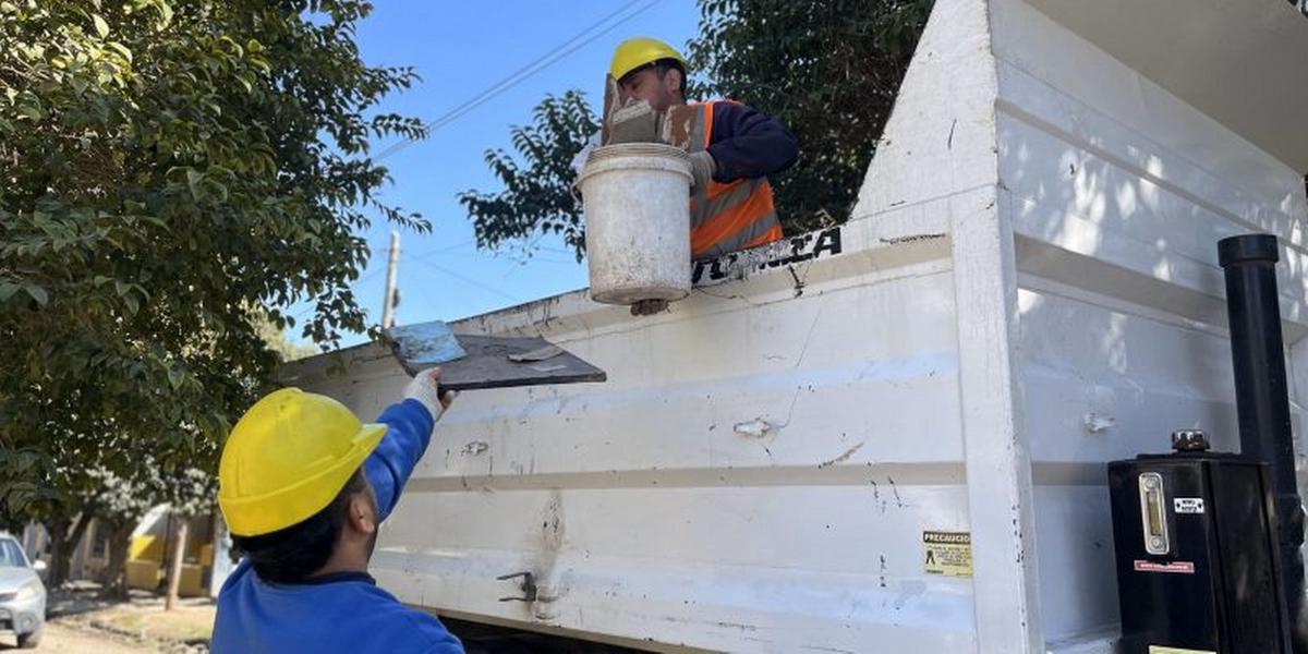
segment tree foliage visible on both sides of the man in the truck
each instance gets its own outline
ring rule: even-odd
[[[730,98],[776,116],[799,140],[794,167],[770,178],[787,233],[849,218],[933,0],[700,0],[691,98]],[[603,71],[595,71],[596,78]],[[477,245],[501,247],[561,232],[583,255],[570,162],[595,131],[579,92],[548,95],[514,127],[518,158],[487,152],[504,186],[459,201]]]

